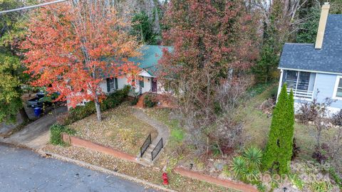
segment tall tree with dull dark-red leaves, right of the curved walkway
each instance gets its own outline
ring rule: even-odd
[[[192,143],[200,150],[210,142],[207,138],[211,138],[212,131],[208,132],[208,128],[219,127],[213,124],[227,113],[224,108],[228,104],[219,106],[217,102],[218,90],[228,95],[225,101],[232,100],[229,106],[235,106],[247,87],[242,83],[252,82],[241,77],[258,57],[257,21],[247,14],[240,0],[173,0],[165,15],[165,26],[163,40],[173,50],[163,50],[159,78],[175,87],[176,92],[179,90],[183,120],[190,129]],[[231,89],[239,90],[234,91],[239,97],[229,95]],[[229,122],[222,125],[229,129],[237,124],[224,122]]]

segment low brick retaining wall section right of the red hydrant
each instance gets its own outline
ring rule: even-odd
[[[214,178],[212,176],[199,174],[198,172],[189,171],[189,170],[181,168],[181,167],[176,167],[174,170],[177,174],[180,174],[182,176],[195,178],[195,179],[200,180],[200,181],[206,181],[208,183],[213,183],[213,184],[218,185],[218,186],[233,188],[233,189],[238,190],[238,191],[248,191],[248,192],[257,192],[258,191],[257,188],[255,188],[254,186],[251,186],[249,184],[246,184],[246,183],[239,183],[239,182],[230,181],[230,180],[222,179],[222,178]]]

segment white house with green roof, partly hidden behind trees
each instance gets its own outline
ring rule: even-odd
[[[167,46],[145,45],[142,46],[142,55],[140,57],[129,59],[141,69],[140,73],[138,73],[140,78],[136,78],[137,82],[134,85],[135,90],[140,94],[144,92],[164,92],[161,83],[157,82],[156,79],[158,60],[162,57],[163,48],[172,49],[172,47]],[[100,87],[104,93],[120,90],[125,87],[125,85],[130,85],[126,75],[120,75],[118,78],[104,78],[103,81],[100,82]]]

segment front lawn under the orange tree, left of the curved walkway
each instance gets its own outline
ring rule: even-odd
[[[132,114],[129,102],[103,112],[103,121],[98,122],[96,114],[86,117],[69,127],[76,129],[76,136],[92,142],[111,146],[114,149],[137,155],[148,134],[157,137],[157,130],[140,121]]]

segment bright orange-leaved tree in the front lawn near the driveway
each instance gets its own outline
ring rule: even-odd
[[[32,85],[59,92],[57,100],[68,100],[72,107],[93,100],[100,121],[102,79],[128,74],[130,82],[138,73],[128,60],[140,54],[138,43],[125,30],[128,24],[104,0],[41,9],[31,18],[22,44]]]

